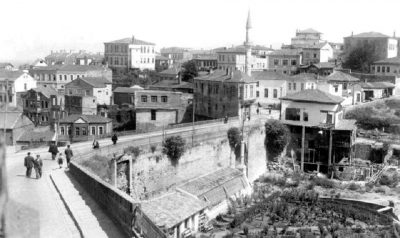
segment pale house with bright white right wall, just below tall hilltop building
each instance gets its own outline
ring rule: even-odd
[[[327,43],[318,43],[313,45],[304,45],[302,64],[314,64],[321,62],[328,62],[333,58],[332,46]]]

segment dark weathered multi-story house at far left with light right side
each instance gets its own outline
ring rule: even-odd
[[[23,111],[35,126],[54,126],[63,117],[64,97],[52,88],[37,87],[22,96]]]

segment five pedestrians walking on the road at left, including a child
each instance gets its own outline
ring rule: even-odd
[[[64,159],[62,153],[59,153],[58,147],[55,143],[52,143],[49,147],[49,152],[51,154],[52,160],[55,160],[58,154],[57,162],[58,166],[60,169],[63,166]],[[72,152],[71,146],[67,145],[67,148],[64,151],[65,158],[67,160],[67,168],[69,168],[70,162],[72,157],[74,156],[74,153]],[[39,179],[42,177],[42,167],[43,167],[43,161],[40,158],[40,155],[36,155],[36,159],[34,159],[31,156],[31,152],[28,152],[28,155],[24,159],[24,165],[26,167],[26,177],[31,177],[32,174],[32,169],[35,169],[36,172],[36,179]]]

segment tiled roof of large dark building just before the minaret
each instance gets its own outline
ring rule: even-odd
[[[248,76],[246,73],[235,70],[226,73],[225,70],[216,70],[212,74],[206,74],[197,77],[198,80],[210,80],[210,81],[224,81],[224,82],[255,82],[253,77]]]

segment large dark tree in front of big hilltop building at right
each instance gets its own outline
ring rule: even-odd
[[[369,73],[370,65],[379,60],[379,56],[371,44],[362,44],[353,48],[345,55],[343,67],[351,70]]]

